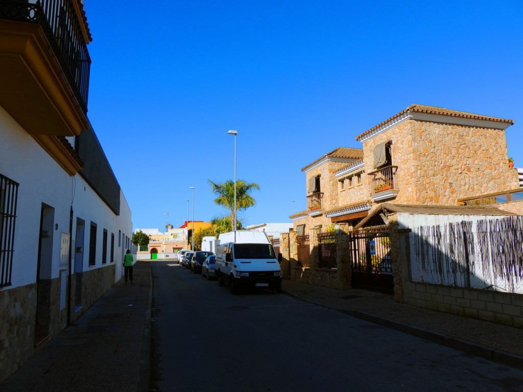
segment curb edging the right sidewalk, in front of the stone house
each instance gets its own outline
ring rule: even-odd
[[[289,295],[290,297],[300,299],[300,301],[309,302],[314,305],[326,307],[328,309],[336,310],[337,312],[344,313],[348,316],[359,318],[361,320],[372,322],[373,324],[382,325],[387,328],[395,329],[400,332],[408,333],[409,335],[416,336],[437,344],[445,345],[447,347],[473,354],[485,358],[487,360],[501,363],[506,366],[514,367],[523,370],[523,356],[512,354],[503,350],[493,349],[486,347],[481,344],[472,343],[467,340],[454,338],[452,336],[444,335],[442,333],[429,331],[427,329],[419,328],[414,325],[404,324],[403,322],[394,321],[388,318],[383,318],[366,312],[360,312],[359,310],[341,310],[332,306],[320,304],[309,299],[300,297],[290,291],[281,290],[281,293]]]

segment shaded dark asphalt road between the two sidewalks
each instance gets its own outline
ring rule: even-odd
[[[152,386],[170,391],[523,391],[505,367],[268,290],[155,261]]]

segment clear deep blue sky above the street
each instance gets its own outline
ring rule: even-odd
[[[302,167],[412,103],[515,120],[523,2],[86,0],[88,116],[134,228],[209,221],[208,179],[257,182],[244,225],[306,207]],[[168,213],[169,215],[165,215]]]

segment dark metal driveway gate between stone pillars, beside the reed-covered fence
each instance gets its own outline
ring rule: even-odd
[[[389,226],[354,229],[349,235],[352,286],[394,292]]]

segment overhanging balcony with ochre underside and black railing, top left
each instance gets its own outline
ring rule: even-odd
[[[89,128],[90,34],[76,3],[0,0],[0,106],[41,144]]]

